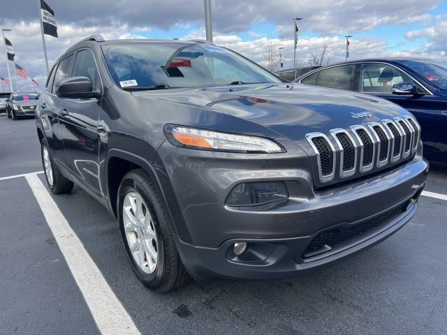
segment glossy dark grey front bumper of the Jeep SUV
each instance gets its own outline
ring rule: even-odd
[[[175,239],[186,269],[199,280],[286,278],[373,246],[416,214],[428,173],[428,164],[418,153],[404,165],[379,175],[316,191],[302,157],[288,160],[275,156],[277,162],[266,164],[260,159],[237,165],[234,161],[226,164],[225,159],[207,161],[207,153],[199,151],[189,152],[187,158],[179,154],[168,152],[166,156],[170,159],[166,175],[184,220],[183,224],[175,220]],[[167,166],[166,159],[163,163]],[[235,184],[263,180],[284,181],[290,198],[260,207],[225,205]],[[339,234],[374,220],[380,221],[361,234],[323,251],[309,251],[321,234]],[[237,257],[232,247],[241,241],[249,247]]]

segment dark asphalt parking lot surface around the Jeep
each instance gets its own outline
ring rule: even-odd
[[[0,142],[0,334],[120,334],[104,328],[107,315],[133,325],[128,334],[447,333],[447,200],[422,196],[416,217],[390,239],[312,274],[191,281],[159,295],[133,275],[115,219],[77,186],[41,194],[85,251],[64,256],[70,246],[46,214],[52,202],[39,202],[30,186],[45,182],[34,174],[42,170],[34,119],[0,114]],[[27,176],[9,178],[18,174]],[[432,165],[425,191],[447,195],[446,166]],[[86,291],[89,267],[98,280]],[[117,303],[101,304],[98,292]]]

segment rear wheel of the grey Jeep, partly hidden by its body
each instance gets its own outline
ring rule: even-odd
[[[43,172],[45,173],[45,179],[50,191],[54,194],[70,192],[75,184],[70,179],[64,177],[56,164],[54,164],[50,149],[47,148],[45,140],[41,142],[41,157]]]

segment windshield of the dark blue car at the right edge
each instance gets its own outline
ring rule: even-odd
[[[444,61],[421,60],[400,61],[414,72],[425,77],[439,89],[447,89],[447,64]]]

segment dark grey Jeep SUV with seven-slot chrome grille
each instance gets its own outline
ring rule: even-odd
[[[194,41],[82,40],[55,62],[36,125],[50,190],[75,182],[107,207],[158,292],[373,246],[416,213],[428,171],[402,107],[293,87]]]

